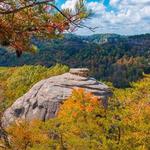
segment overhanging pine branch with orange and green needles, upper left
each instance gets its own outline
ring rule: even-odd
[[[84,27],[81,21],[88,15],[84,0],[79,0],[73,10],[59,9],[55,0],[0,0],[0,43],[20,56],[23,51],[36,50],[33,37],[56,38]]]

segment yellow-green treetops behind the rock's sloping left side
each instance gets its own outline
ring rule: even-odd
[[[65,65],[0,67],[0,112],[42,79],[67,72]]]

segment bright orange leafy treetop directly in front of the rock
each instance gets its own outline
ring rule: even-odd
[[[58,118],[70,115],[76,118],[81,112],[91,113],[99,107],[100,101],[91,93],[86,93],[84,89],[74,89],[72,96],[61,106]],[[68,118],[68,119],[69,119]]]

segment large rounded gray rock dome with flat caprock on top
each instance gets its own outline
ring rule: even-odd
[[[71,69],[69,73],[38,82],[4,112],[3,127],[18,119],[45,121],[55,117],[60,104],[71,95],[74,88],[92,92],[102,99],[106,107],[108,97],[111,96],[110,89],[94,78],[86,77],[87,74],[87,69]]]

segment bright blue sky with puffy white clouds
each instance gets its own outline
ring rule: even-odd
[[[57,0],[61,8],[73,8],[78,0]],[[87,8],[94,16],[85,21],[98,27],[97,33],[134,35],[150,33],[150,0],[87,0]],[[93,34],[88,29],[78,29],[76,34]]]

